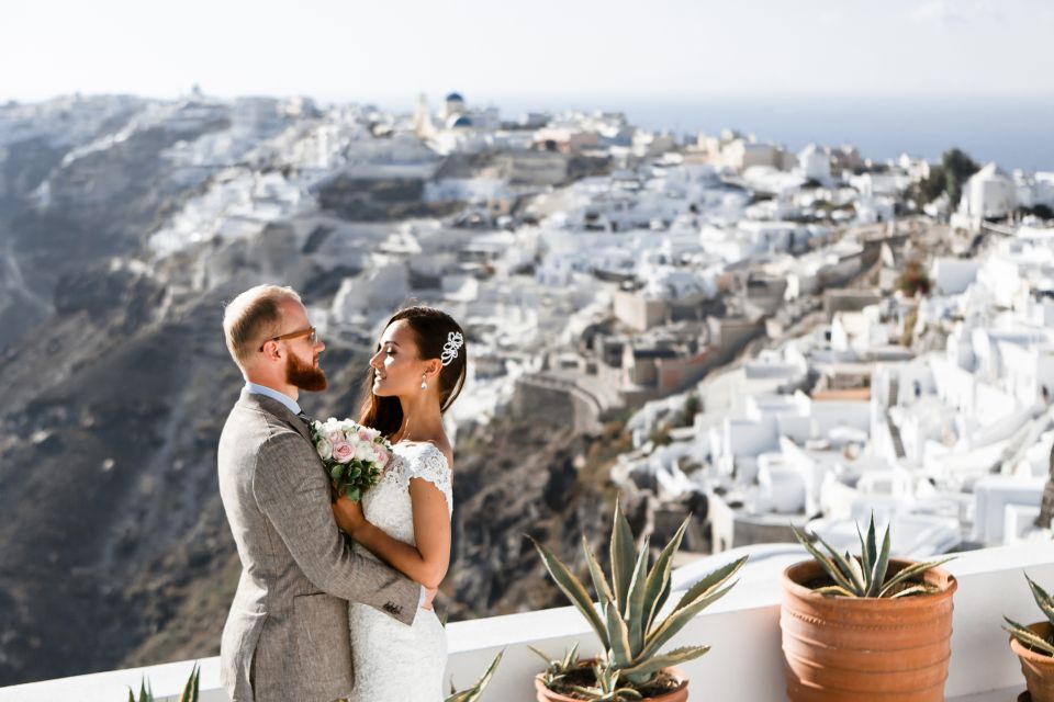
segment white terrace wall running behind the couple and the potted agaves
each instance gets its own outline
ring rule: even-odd
[[[714,557],[715,566],[728,559]],[[1027,543],[960,554],[948,568],[958,578],[952,660],[945,692],[952,702],[1010,702],[1024,690],[1017,657],[1000,629],[1006,614],[1018,621],[1042,619],[1022,571],[1054,582],[1054,543]],[[709,569],[708,567],[706,568]],[[671,646],[709,644],[709,654],[684,666],[693,700],[784,702],[780,649],[778,578],[755,579],[747,571],[722,600],[693,620]],[[595,636],[573,608],[559,608],[456,622],[447,627],[447,681],[467,687],[505,650],[484,701],[531,702],[531,678],[542,663],[527,645],[559,655],[575,642],[585,656],[597,653]],[[158,700],[176,702],[193,661],[181,661],[48,680],[0,689],[0,702],[122,702],[147,676]],[[201,661],[201,702],[226,702],[218,659]]]

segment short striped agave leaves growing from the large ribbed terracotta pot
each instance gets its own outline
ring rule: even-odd
[[[943,565],[952,559],[953,556],[930,561],[927,563],[917,563],[902,568],[897,574],[889,575],[889,528],[886,526],[886,533],[882,540],[882,547],[878,547],[875,539],[875,514],[871,514],[871,525],[867,528],[867,536],[860,533],[860,526],[856,526],[856,535],[860,536],[860,555],[853,556],[846,551],[844,554],[838,553],[829,543],[823,541],[818,534],[816,539],[827,550],[827,554],[820,552],[816,545],[803,532],[792,525],[794,535],[797,536],[801,545],[816,558],[817,563],[830,576],[833,585],[817,588],[815,592],[828,597],[873,597],[873,598],[900,598],[912,595],[923,595],[932,592],[933,587],[916,579],[930,568]]]

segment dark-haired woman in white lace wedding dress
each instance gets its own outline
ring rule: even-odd
[[[439,586],[450,563],[453,453],[442,414],[464,376],[458,322],[430,307],[397,312],[370,360],[358,419],[388,437],[394,458],[361,505],[341,497],[333,506],[357,551],[428,589]],[[447,639],[435,612],[418,609],[406,626],[352,602],[348,618],[355,666],[350,702],[442,700]]]

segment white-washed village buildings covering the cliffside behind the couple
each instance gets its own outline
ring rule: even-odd
[[[922,203],[934,163],[907,155],[457,93],[413,114],[193,94],[142,118],[229,121],[167,151],[200,185],[153,265],[214,247],[195,291],[251,261],[351,343],[441,305],[470,333],[455,422],[621,422],[613,478],[657,529],[695,511],[689,550],[807,522],[848,545],[872,511],[904,556],[1049,537],[1054,227],[1024,213],[1054,207],[1054,172],[989,163]]]

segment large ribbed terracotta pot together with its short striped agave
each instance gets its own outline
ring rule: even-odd
[[[955,578],[950,558],[916,563],[879,547],[875,518],[860,555],[822,553],[794,530],[812,559],[783,574],[784,671],[792,702],[941,702],[951,657]]]

